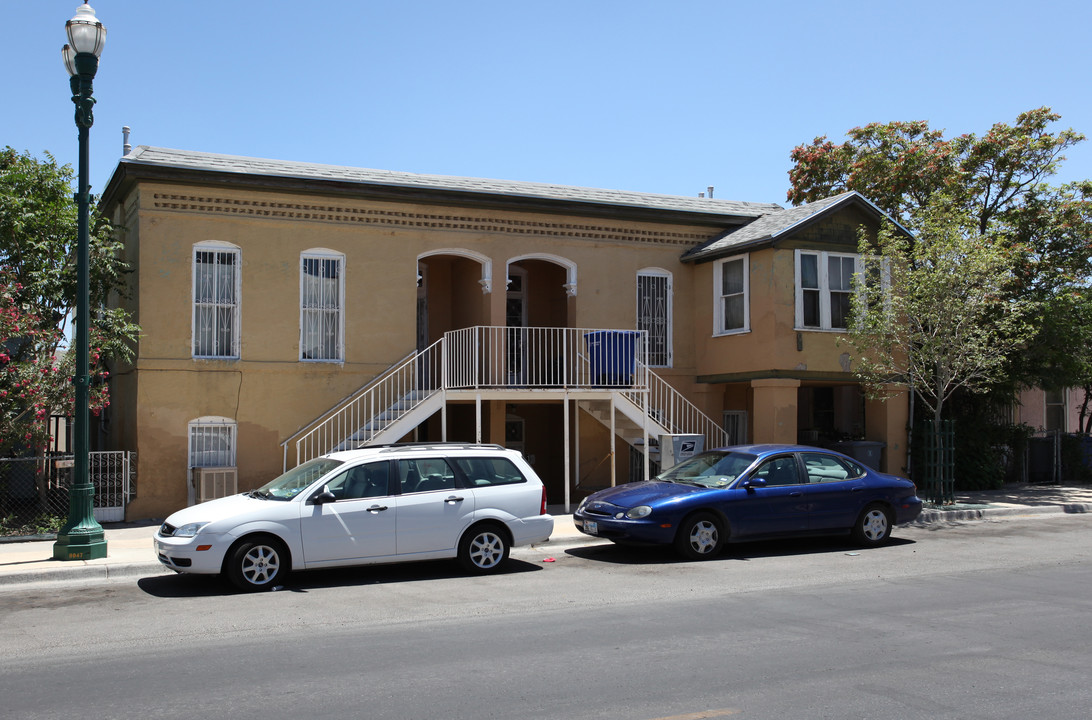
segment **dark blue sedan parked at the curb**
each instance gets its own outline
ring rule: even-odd
[[[674,545],[688,559],[715,557],[725,542],[847,533],[881,545],[922,512],[914,483],[839,452],[799,445],[710,450],[648,482],[584,498],[573,521],[619,544]]]

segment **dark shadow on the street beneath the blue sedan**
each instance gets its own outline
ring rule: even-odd
[[[755,540],[749,542],[729,543],[721,554],[709,563],[733,560],[757,560],[765,557],[794,557],[819,555],[826,553],[875,553],[886,547],[913,545],[913,540],[891,538],[886,545],[879,547],[862,547],[850,538],[827,535],[817,538],[792,538],[782,540]],[[689,563],[679,557],[669,545],[615,545],[598,544],[582,547],[569,547],[567,555],[598,563],[614,565],[674,565]]]

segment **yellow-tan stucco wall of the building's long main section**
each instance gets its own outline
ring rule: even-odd
[[[135,367],[114,386],[114,441],[138,452],[130,518],[186,505],[188,424],[201,416],[237,423],[240,489],[277,474],[283,440],[414,350],[422,256],[450,249],[491,262],[487,294],[475,259],[422,260],[432,340],[459,327],[505,324],[512,259],[530,273],[529,323],[633,328],[638,271],[664,268],[676,288],[689,285],[693,268],[678,258],[715,232],[159,181],[142,181],[121,205],[126,252],[139,268],[131,307],[143,328]],[[210,240],[241,253],[238,359],[191,353],[193,249]],[[310,249],[345,257],[342,363],[299,361],[299,257]],[[565,287],[570,280],[575,295]],[[693,385],[693,355],[680,342],[692,295],[676,290],[674,304],[673,371]]]

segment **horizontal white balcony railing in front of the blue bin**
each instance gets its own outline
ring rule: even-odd
[[[448,389],[641,388],[644,331],[477,326],[447,333]]]

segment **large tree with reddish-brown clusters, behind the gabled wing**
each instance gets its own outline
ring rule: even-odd
[[[1081,335],[1073,322],[1083,317],[1072,314],[1071,298],[1092,280],[1092,184],[1047,182],[1065,151],[1084,140],[1072,129],[1054,131],[1058,119],[1042,107],[982,137],[946,139],[914,121],[854,128],[840,144],[816,138],[793,150],[788,200],[799,204],[857,190],[927,241],[937,231],[933,206],[942,197],[950,205],[942,214],[951,220],[958,210],[963,235],[1010,253],[1005,292],[1009,302],[1031,304],[1029,317],[1041,331],[1030,342],[1008,343],[1020,352],[1000,358],[1005,371],[989,374],[995,387],[1092,387],[1070,359]]]

